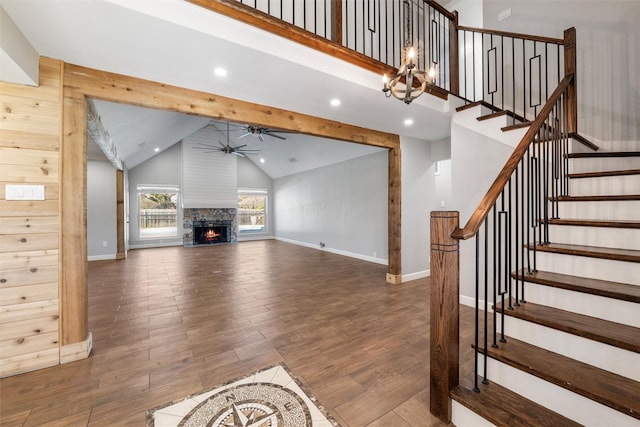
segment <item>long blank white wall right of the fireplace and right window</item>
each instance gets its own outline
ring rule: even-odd
[[[277,239],[387,262],[388,153],[275,179]]]

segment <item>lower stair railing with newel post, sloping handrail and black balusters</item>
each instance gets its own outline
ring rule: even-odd
[[[537,247],[549,243],[548,220],[569,191],[574,85],[574,73],[560,81],[464,227],[457,212],[432,212],[430,405],[442,420],[450,421],[449,392],[458,385],[458,242],[475,239],[473,389],[479,392],[478,381],[487,382],[488,346],[505,342],[498,312],[525,301],[523,277],[537,270]]]

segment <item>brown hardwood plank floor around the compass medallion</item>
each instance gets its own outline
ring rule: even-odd
[[[444,425],[429,414],[429,281],[385,273],[277,241],[91,262],[91,356],[0,380],[0,425],[143,426],[147,409],[282,362],[343,426]],[[461,307],[465,360],[471,320]]]

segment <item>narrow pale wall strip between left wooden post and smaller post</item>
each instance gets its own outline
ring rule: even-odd
[[[115,259],[117,252],[116,170],[108,161],[87,161],[87,255]]]

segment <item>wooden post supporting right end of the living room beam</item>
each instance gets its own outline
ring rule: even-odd
[[[389,213],[388,244],[389,266],[387,283],[402,283],[402,219],[401,219],[401,164],[400,147],[389,150]]]

